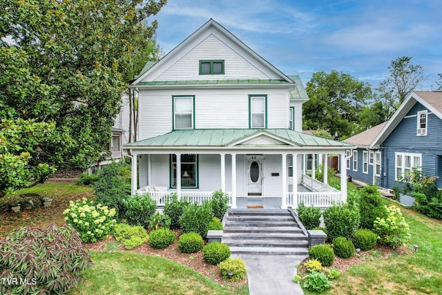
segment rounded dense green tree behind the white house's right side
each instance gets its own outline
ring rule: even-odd
[[[339,137],[352,134],[359,111],[372,97],[369,84],[336,70],[314,73],[306,90],[309,100],[303,105],[302,128],[337,132]]]

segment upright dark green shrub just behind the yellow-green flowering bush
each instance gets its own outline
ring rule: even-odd
[[[382,204],[381,193],[373,185],[367,185],[359,191],[359,210],[363,229],[373,229],[376,218],[387,217],[387,211]]]

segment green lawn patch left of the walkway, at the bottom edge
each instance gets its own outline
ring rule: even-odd
[[[93,267],[70,294],[249,294],[247,285],[220,285],[172,260],[122,252],[92,252]]]

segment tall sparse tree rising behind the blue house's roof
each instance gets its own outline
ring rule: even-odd
[[[406,56],[392,60],[388,67],[390,75],[376,89],[383,98],[385,108],[389,110],[389,117],[403,103],[405,97],[425,79],[424,68],[415,66],[411,60],[412,57]]]

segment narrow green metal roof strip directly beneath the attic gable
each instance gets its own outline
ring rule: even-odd
[[[179,81],[151,81],[140,82],[142,85],[188,85],[188,84],[289,84],[285,80],[275,79],[222,79],[222,80],[179,80]]]

